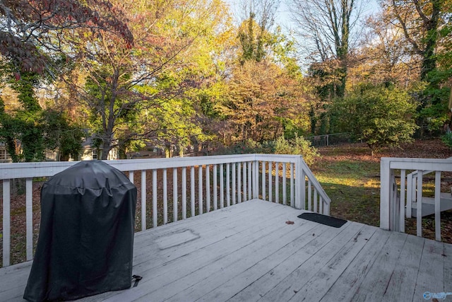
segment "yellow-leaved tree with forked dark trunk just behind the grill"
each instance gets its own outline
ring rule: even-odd
[[[105,30],[73,37],[80,41],[74,52],[81,54],[81,71],[71,79],[72,88],[86,108],[102,159],[115,147],[124,152],[135,141],[158,141],[163,126],[155,121],[165,102],[187,100],[187,91],[210,80],[211,47],[225,9],[221,1],[204,0],[112,3],[127,8],[132,47]],[[186,126],[181,123],[169,129]]]

